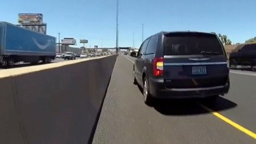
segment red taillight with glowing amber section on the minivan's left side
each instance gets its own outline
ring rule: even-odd
[[[153,66],[154,76],[162,76],[163,70],[164,70],[164,58],[163,57],[154,58],[154,66]]]

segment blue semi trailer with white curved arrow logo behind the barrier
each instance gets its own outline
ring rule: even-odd
[[[0,22],[0,66],[14,63],[50,63],[56,56],[56,38],[11,23]]]

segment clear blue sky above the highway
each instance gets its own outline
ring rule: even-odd
[[[119,0],[119,46],[139,47],[159,31],[222,33],[232,42],[256,36],[255,0]],[[18,24],[18,13],[42,13],[47,34],[87,39],[87,47],[115,47],[116,0],[1,1],[0,21]]]

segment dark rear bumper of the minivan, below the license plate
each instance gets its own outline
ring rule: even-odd
[[[207,98],[229,92],[229,82],[217,87],[197,87],[190,89],[169,89],[163,78],[150,78],[150,93],[154,98]]]

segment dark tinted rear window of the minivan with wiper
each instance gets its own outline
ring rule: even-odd
[[[175,33],[165,35],[165,55],[225,55],[216,35]]]

